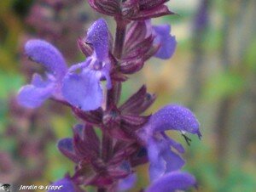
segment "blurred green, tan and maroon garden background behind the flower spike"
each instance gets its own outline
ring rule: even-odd
[[[122,100],[146,83],[158,99],[148,113],[168,103],[193,110],[201,122],[201,141],[186,146],[184,170],[198,180],[198,191],[253,192],[256,189],[256,1],[172,0],[177,15],[154,20],[169,23],[177,38],[170,60],[151,59],[125,82]],[[73,163],[55,147],[71,137],[70,111],[47,101],[37,110],[16,104],[19,88],[39,65],[23,52],[27,39],[55,44],[71,65],[84,59],[77,39],[102,17],[83,0],[0,1],[0,183],[49,184]],[[114,30],[114,22],[106,18]],[[148,184],[138,167],[137,188]],[[135,189],[132,191],[136,191]]]

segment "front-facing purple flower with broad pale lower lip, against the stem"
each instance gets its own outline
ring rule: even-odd
[[[107,80],[107,88],[111,88],[108,25],[105,20],[96,20],[90,26],[85,43],[94,49],[93,54],[68,70],[63,81],[62,93],[70,104],[82,110],[96,110],[102,105],[101,80]]]

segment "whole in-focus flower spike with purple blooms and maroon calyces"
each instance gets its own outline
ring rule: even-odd
[[[149,162],[147,192],[172,192],[195,185],[195,178],[182,172],[183,146],[166,134],[168,130],[197,134],[199,122],[193,113],[168,104],[151,116],[143,112],[155,96],[146,86],[119,104],[122,82],[140,71],[151,57],[169,59],[176,49],[170,25],[152,25],[151,19],[172,14],[167,0],[89,0],[102,14],[113,16],[113,36],[105,20],[96,20],[79,48],[84,61],[67,66],[62,54],[43,40],[26,42],[26,55],[44,65],[44,77],[35,74],[20,89],[20,104],[35,108],[46,99],[66,104],[83,121],[73,127],[73,138],[58,142],[61,153],[74,162],[73,175],[52,185],[61,191],[84,191],[88,185],[98,191],[125,191],[136,183],[135,167]],[[50,190],[49,190],[50,191]]]

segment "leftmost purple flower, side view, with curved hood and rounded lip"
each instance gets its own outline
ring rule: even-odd
[[[49,97],[61,99],[61,81],[67,72],[67,64],[62,54],[49,42],[42,40],[26,42],[25,50],[30,59],[44,65],[47,73],[45,79],[35,74],[31,84],[20,88],[19,103],[28,108],[35,108]]]

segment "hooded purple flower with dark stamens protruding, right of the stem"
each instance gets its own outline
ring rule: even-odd
[[[183,159],[172,150],[183,153],[183,146],[169,138],[165,133],[167,130],[194,133],[201,137],[199,122],[194,114],[183,106],[169,104],[154,113],[139,132],[147,144],[151,180],[160,178],[167,172],[179,170],[184,164]]]

